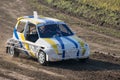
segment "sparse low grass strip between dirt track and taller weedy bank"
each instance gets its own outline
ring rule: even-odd
[[[49,3],[51,0],[48,0]],[[50,7],[47,7],[43,4],[40,4],[37,0],[28,0],[28,3],[33,7],[34,10],[37,10],[39,14],[57,18],[60,20],[63,20],[67,22],[69,25],[75,25],[80,26],[98,33],[106,34],[109,36],[113,36],[116,38],[120,38],[120,31],[112,28],[102,27],[99,25],[92,24],[90,22],[86,22],[80,19],[76,19],[74,17],[71,17],[69,15],[66,15],[65,13],[61,13],[59,10],[54,10]]]

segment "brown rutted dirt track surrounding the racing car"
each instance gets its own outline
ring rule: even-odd
[[[32,11],[26,0],[0,0],[0,80],[120,80],[120,39],[75,28],[76,25],[72,28],[91,47],[92,54],[86,63],[68,60],[41,66],[35,59],[5,54],[5,42],[12,36],[15,18]]]

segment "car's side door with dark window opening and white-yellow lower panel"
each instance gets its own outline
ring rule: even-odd
[[[29,53],[32,57],[36,57],[36,45],[35,42],[38,40],[38,33],[36,25],[28,22],[24,31],[24,38],[26,42],[26,49],[29,50]]]

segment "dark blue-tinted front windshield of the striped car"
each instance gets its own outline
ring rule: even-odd
[[[71,36],[72,31],[66,24],[49,24],[38,27],[38,31],[41,38],[52,38],[61,36]]]

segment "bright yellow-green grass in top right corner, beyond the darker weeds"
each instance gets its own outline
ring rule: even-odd
[[[78,0],[84,4],[90,4],[106,10],[120,11],[120,0]]]

